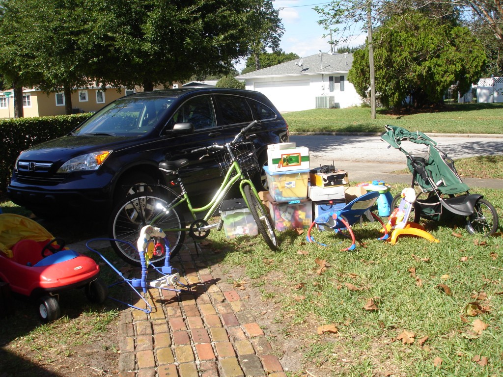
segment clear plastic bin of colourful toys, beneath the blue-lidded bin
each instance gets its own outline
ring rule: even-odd
[[[312,202],[308,199],[286,203],[269,202],[269,212],[279,231],[308,229],[312,223]]]

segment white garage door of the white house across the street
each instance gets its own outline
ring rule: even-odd
[[[264,93],[280,112],[314,108],[309,81],[257,82],[255,90]]]

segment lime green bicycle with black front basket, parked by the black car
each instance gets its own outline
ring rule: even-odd
[[[278,250],[278,239],[274,232],[273,222],[259,198],[255,185],[250,180],[251,175],[259,172],[260,166],[253,142],[247,141],[248,132],[252,131],[256,124],[257,121],[253,121],[242,128],[231,142],[192,150],[192,153],[202,151],[206,152],[205,156],[211,153],[221,158],[219,166],[224,175],[223,181],[210,202],[203,207],[192,206],[179,175],[179,169],[187,166],[189,161],[181,159],[160,162],[159,170],[170,175],[171,181],[180,187],[180,193],[158,184],[152,191],[142,187],[141,192],[130,195],[119,203],[108,225],[110,242],[116,253],[128,263],[140,265],[138,251],[132,245],[136,243],[140,230],[145,225],[158,227],[166,233],[170,241],[170,257],[178,253],[187,232],[194,239],[204,239],[211,229],[220,230],[221,220],[216,224],[209,224],[208,220],[235,184],[239,185],[241,196],[257,223],[258,232],[264,237],[271,250]],[[175,125],[175,128],[177,127],[192,127],[192,125],[178,124]],[[183,207],[180,207],[182,204],[186,205],[185,211],[182,211]],[[187,210],[192,216],[190,226],[187,226],[184,219],[184,212]],[[204,216],[198,218],[198,214],[204,214]],[[132,245],[119,241],[126,241]],[[151,252],[151,262],[164,259],[166,255],[163,250],[162,245],[155,245]]]

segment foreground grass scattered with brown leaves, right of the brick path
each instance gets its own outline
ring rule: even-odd
[[[501,217],[503,192],[477,193]],[[354,227],[360,244],[352,252],[341,251],[351,242],[333,232],[314,233],[328,247],[306,243],[306,230],[279,233],[276,253],[257,238],[210,239],[229,283],[245,281],[280,308],[275,323],[284,339],[296,339],[312,373],[289,377],[503,375],[501,234],[471,235],[464,219],[423,225],[439,243],[401,236],[387,244],[370,222]]]

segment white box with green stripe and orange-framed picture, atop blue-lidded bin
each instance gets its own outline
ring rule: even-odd
[[[268,145],[267,163],[271,172],[309,169],[309,148],[295,147],[295,143]]]

